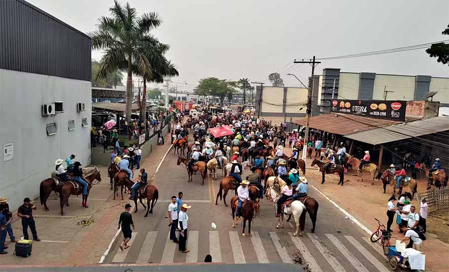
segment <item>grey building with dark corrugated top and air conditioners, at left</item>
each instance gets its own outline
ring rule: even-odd
[[[54,162],[90,163],[90,37],[24,0],[0,1],[0,192],[36,198]]]

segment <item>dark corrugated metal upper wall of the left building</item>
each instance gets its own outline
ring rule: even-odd
[[[0,0],[0,68],[91,80],[91,40],[23,0]]]

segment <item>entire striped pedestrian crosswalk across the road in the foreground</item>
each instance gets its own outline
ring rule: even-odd
[[[142,243],[143,240],[143,243]],[[133,233],[129,249],[117,249],[111,263],[197,263],[210,254],[216,263],[301,263],[308,271],[387,272],[386,258],[363,238],[338,234],[295,237],[291,232],[189,231],[189,253],[178,251],[167,232]],[[113,252],[114,254],[114,252]]]

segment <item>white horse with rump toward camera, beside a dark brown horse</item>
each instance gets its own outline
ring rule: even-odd
[[[284,186],[286,186],[286,185],[284,185]],[[280,188],[282,189],[282,187],[280,187]],[[280,198],[280,194],[278,194],[271,187],[269,190],[269,194],[270,194],[271,199],[274,201],[274,204],[273,204],[274,210],[276,210],[277,209],[277,200]],[[298,235],[299,229],[301,229],[299,236],[303,236],[304,227],[305,227],[305,215],[306,215],[306,210],[307,210],[306,207],[299,200],[295,200],[290,204],[290,206],[287,207],[286,210],[287,210],[287,213],[285,213],[285,214],[293,215],[293,220],[295,221],[295,224],[296,224],[296,230],[295,230],[295,233],[293,234],[293,236]],[[281,214],[277,219],[276,228],[279,229],[279,228],[283,228],[283,227],[284,227],[284,211],[281,210]]]

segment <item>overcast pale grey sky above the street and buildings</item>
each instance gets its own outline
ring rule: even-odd
[[[75,28],[89,32],[108,15],[112,0],[28,0]],[[124,1],[123,1],[124,2]],[[448,0],[130,0],[139,13],[155,11],[164,23],[154,34],[172,48],[167,56],[179,68],[177,82],[203,77],[247,77],[269,85],[268,74],[294,58],[360,53],[448,39]],[[100,59],[101,52],[92,52]],[[287,66],[289,67],[289,66]],[[449,67],[423,50],[326,60],[323,68],[449,77]],[[281,77],[286,86],[296,79]],[[310,66],[289,72],[301,80]],[[304,81],[303,81],[304,82]],[[305,83],[305,82],[304,82]],[[191,86],[191,85],[187,85]]]

